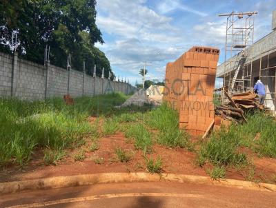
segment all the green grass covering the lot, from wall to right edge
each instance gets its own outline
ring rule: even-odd
[[[162,171],[161,158],[148,158],[148,154],[154,154],[155,143],[195,149],[198,165],[213,165],[213,169],[207,172],[214,179],[224,178],[226,169],[242,168],[248,171],[246,180],[254,180],[255,167],[249,163],[251,156],[244,153],[248,148],[259,156],[276,157],[275,118],[262,112],[246,114],[247,123],[221,128],[208,140],[192,145],[188,134],[178,129],[175,110],[167,105],[155,109],[150,105],[114,107],[124,103],[126,98],[128,96],[123,94],[83,97],[75,99],[75,105],[69,106],[59,98],[35,102],[1,99],[0,166],[23,166],[37,149],[42,149],[46,165],[57,165],[65,152],[69,152],[66,149],[75,148],[72,158],[84,160],[84,148],[95,152],[99,149],[100,136],[116,132],[123,132],[127,143],[131,142],[135,149],[143,151],[146,169],[150,173]],[[87,141],[90,145],[86,144]],[[121,147],[115,149],[115,155],[121,163],[132,158],[132,154]],[[103,163],[100,157],[93,160],[99,165]]]

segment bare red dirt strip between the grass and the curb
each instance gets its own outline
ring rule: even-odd
[[[125,149],[132,156],[128,163],[119,162],[115,155],[116,147]],[[74,160],[73,155],[75,152],[76,150],[70,149],[66,157],[57,166],[46,166],[43,162],[43,152],[37,150],[34,154],[34,159],[25,167],[21,169],[19,167],[6,167],[2,169],[0,171],[0,182],[105,172],[146,171],[144,153],[136,150],[133,143],[127,143],[124,134],[121,132],[100,138],[99,149],[95,152],[87,151],[86,158],[83,161]],[[156,144],[153,146],[153,151],[150,156],[152,158],[157,158],[157,156],[161,157],[164,173],[208,176],[206,170],[211,168],[211,165],[205,165],[204,167],[195,165],[196,154],[181,148],[171,149]],[[227,169],[226,178],[276,183],[276,160],[271,158],[257,158],[257,156],[253,157],[255,168],[250,169],[249,165],[246,169]],[[95,158],[103,158],[103,164],[95,164]],[[254,176],[250,175],[252,173]]]

